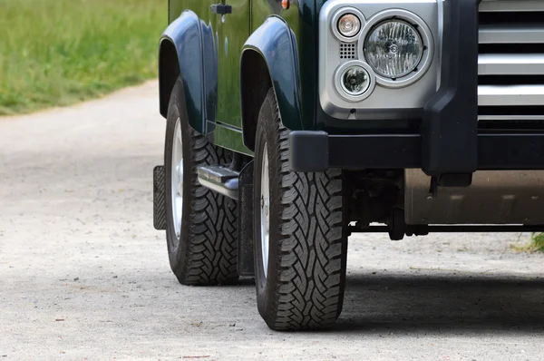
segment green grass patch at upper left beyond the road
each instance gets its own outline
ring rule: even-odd
[[[155,77],[167,13],[166,0],[0,0],[0,115]]]

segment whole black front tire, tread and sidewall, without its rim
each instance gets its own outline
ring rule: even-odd
[[[289,170],[288,134],[271,89],[257,123],[254,229],[257,307],[280,331],[329,327],[344,301],[347,236],[342,171]],[[270,216],[267,277],[261,249],[261,170],[267,146]]]

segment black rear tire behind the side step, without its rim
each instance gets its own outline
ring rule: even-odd
[[[172,213],[172,148],[180,122],[183,151],[183,201],[180,239]],[[197,169],[228,164],[231,155],[189,127],[183,84],[178,79],[170,95],[164,146],[166,239],[170,267],[181,284],[217,285],[234,282],[237,273],[237,202],[199,184]]]

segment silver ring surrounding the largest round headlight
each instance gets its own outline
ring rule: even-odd
[[[434,56],[434,39],[432,38],[431,29],[427,24],[425,24],[423,19],[409,11],[402,9],[389,9],[374,15],[373,17],[368,19],[368,21],[364,25],[363,30],[358,36],[359,44],[361,44],[361,46],[359,46],[358,53],[359,58],[364,59],[364,62],[368,63],[364,54],[364,49],[366,48],[366,40],[368,36],[374,30],[374,27],[384,22],[394,20],[408,23],[412,25],[418,32],[423,41],[422,58],[420,63],[417,65],[416,70],[414,70],[412,73],[408,73],[394,80],[392,78],[380,75],[379,73],[375,73],[375,77],[376,82],[380,85],[383,85],[384,87],[403,88],[420,80],[431,67],[432,58]]]

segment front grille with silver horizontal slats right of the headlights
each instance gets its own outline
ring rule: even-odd
[[[544,0],[483,0],[479,48],[480,122],[523,122],[540,128]]]

